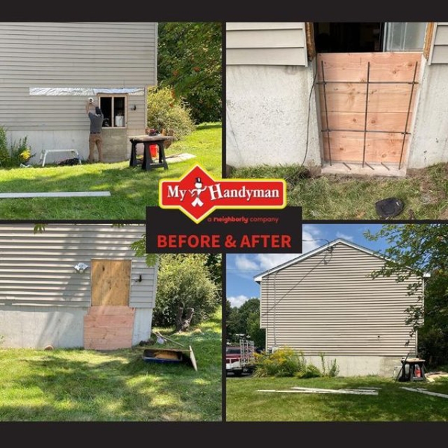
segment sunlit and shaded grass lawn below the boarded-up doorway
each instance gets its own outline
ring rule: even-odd
[[[146,363],[143,346],[0,349],[0,421],[221,421],[221,310],[198,328],[172,337],[197,372]]]

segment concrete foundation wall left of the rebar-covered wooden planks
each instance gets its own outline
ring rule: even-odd
[[[234,167],[304,160],[313,70],[303,66],[227,66],[226,162]],[[316,97],[311,95],[305,165],[321,165]]]

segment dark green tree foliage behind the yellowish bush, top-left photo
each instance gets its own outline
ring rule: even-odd
[[[220,22],[158,25],[158,81],[189,104],[195,123],[221,121]]]

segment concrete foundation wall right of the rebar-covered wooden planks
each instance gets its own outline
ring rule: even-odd
[[[424,168],[448,162],[448,65],[426,66],[421,82],[421,92],[408,168]]]

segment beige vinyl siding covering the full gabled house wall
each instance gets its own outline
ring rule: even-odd
[[[309,356],[414,352],[405,309],[416,303],[407,295],[416,278],[397,283],[392,276],[369,277],[383,265],[381,258],[338,243],[332,253],[316,253],[265,276],[260,320],[267,346],[291,346]]]

